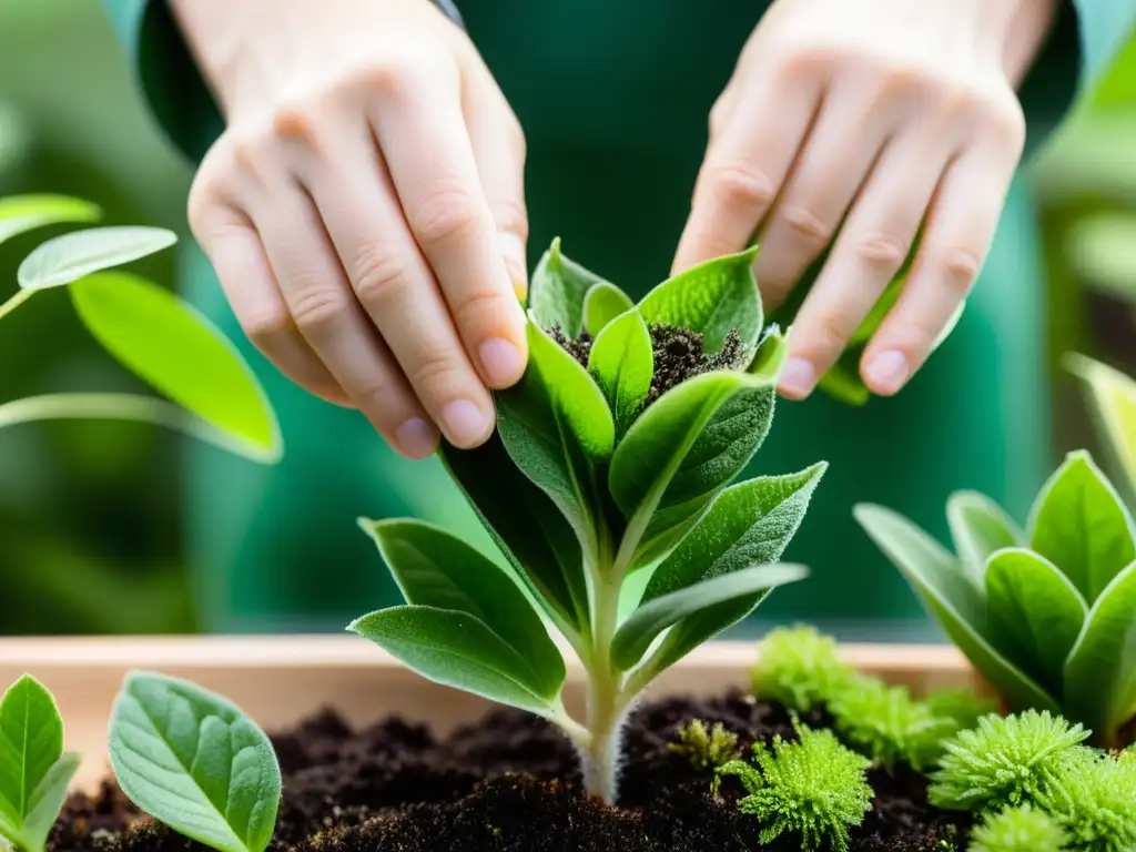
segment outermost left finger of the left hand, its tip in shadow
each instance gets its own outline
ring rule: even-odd
[[[350,399],[300,334],[249,219],[228,208],[214,208],[194,227],[194,236],[245,335],[276,368],[307,391],[339,406]]]

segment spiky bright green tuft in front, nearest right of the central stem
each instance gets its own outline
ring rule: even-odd
[[[753,765],[730,761],[718,769],[718,777],[734,776],[742,783],[746,795],[737,807],[758,818],[761,843],[794,834],[804,850],[827,842],[846,852],[849,828],[871,810],[874,793],[864,774],[870,763],[830,730],[797,722],[796,732],[797,742],[775,736],[771,750],[755,743]]]

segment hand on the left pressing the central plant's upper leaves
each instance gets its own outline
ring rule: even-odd
[[[403,456],[524,373],[524,136],[428,0],[174,0],[226,114],[190,223],[250,340]]]

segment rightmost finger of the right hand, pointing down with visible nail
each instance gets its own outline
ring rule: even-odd
[[[1017,159],[974,148],[943,175],[908,283],[861,360],[874,393],[899,391],[954,318],[994,240]],[[976,186],[994,189],[976,193]]]

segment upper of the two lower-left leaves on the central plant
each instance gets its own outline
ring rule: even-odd
[[[498,566],[420,520],[361,520],[407,603],[474,616],[532,663],[541,692],[565,680],[565,662],[540,617]]]

